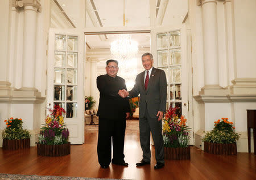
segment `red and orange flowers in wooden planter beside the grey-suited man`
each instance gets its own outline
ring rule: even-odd
[[[186,125],[187,119],[183,115],[179,119],[175,112],[176,108],[170,106],[163,118],[164,158],[172,160],[190,159],[190,131]]]

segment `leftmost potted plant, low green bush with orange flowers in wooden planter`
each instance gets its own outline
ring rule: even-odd
[[[3,149],[30,148],[30,132],[23,130],[22,119],[13,118],[5,120],[6,128],[2,132]]]

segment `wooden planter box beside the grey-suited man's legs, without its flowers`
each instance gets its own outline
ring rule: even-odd
[[[185,148],[164,147],[164,158],[168,160],[190,160],[190,146]]]

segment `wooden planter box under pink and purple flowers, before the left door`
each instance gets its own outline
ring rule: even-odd
[[[67,144],[37,144],[39,156],[65,156],[70,154],[70,142]]]

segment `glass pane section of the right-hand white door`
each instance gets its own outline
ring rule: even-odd
[[[181,93],[181,43],[180,31],[159,33],[157,38],[158,68],[166,72],[167,108],[176,108],[176,114],[182,115]]]

